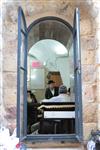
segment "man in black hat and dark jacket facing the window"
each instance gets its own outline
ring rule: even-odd
[[[55,82],[53,80],[48,81],[48,88],[45,91],[45,98],[50,99],[54,96],[58,96],[58,87],[55,87]]]

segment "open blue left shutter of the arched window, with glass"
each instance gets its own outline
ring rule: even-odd
[[[23,139],[27,135],[27,27],[21,7],[18,9],[17,54],[17,136]]]

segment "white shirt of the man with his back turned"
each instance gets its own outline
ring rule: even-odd
[[[60,94],[50,99],[44,99],[42,100],[42,102],[71,102],[71,100],[70,96],[68,96],[67,94]]]

